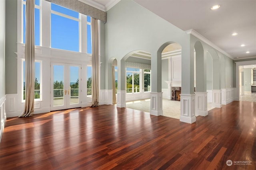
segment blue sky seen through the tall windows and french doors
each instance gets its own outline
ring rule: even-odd
[[[26,0],[23,0],[26,1]],[[35,5],[40,5],[40,0],[35,0]],[[23,43],[25,43],[25,4],[23,4]],[[72,16],[79,19],[79,13],[67,8],[51,4],[51,10],[60,12],[62,14]],[[35,8],[35,45],[40,46],[40,10]],[[79,22],[51,14],[51,47],[56,49],[64,49],[68,51],[79,52]],[[87,16],[87,21],[90,22],[90,16]],[[87,53],[92,53],[91,45],[91,25],[87,25]],[[25,64],[25,62],[24,62]],[[67,68],[68,69],[68,68]],[[63,80],[64,76],[63,66],[54,66],[54,81]],[[78,79],[78,67],[71,66],[70,69],[70,82],[76,82]],[[25,70],[23,70],[25,76]],[[87,78],[91,76],[91,69],[87,69]],[[35,63],[35,78],[40,82],[40,63]]]

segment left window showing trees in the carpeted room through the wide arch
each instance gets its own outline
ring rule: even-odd
[[[140,92],[140,69],[126,68],[126,93]]]

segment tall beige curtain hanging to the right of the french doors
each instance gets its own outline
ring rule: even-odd
[[[98,20],[91,18],[92,29],[92,105],[99,105],[99,54],[98,54]]]

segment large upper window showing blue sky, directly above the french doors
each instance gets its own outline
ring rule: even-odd
[[[51,47],[79,52],[79,25],[78,12],[51,4]]]

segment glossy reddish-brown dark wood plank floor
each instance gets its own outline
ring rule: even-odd
[[[255,130],[256,102],[232,102],[193,124],[107,105],[8,118],[0,169],[255,170]]]

